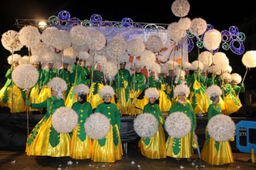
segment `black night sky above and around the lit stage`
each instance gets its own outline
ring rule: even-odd
[[[107,0],[106,0],[107,1]],[[174,16],[171,11],[173,1],[118,1],[118,2],[100,2],[91,1],[92,4],[82,4],[78,1],[1,1],[1,26],[0,34],[5,31],[19,31],[13,24],[15,19],[48,19],[51,15],[57,15],[61,10],[67,10],[73,17],[80,20],[90,19],[92,14],[100,14],[103,19],[108,21],[121,21],[124,17],[130,17],[135,22],[163,23],[170,24],[178,21],[178,17]],[[89,1],[83,1],[84,3]],[[155,3],[152,3],[155,2]],[[219,30],[226,30],[232,25],[241,24],[246,19],[256,16],[256,2],[244,0],[239,3],[234,1],[189,1],[190,11],[188,17],[202,17],[207,23],[214,25]],[[245,32],[245,30],[241,30]],[[255,50],[247,49],[246,50]],[[6,58],[9,51],[0,45],[0,81],[5,82],[4,75],[8,69]],[[229,57],[230,65],[235,68],[236,72],[241,75],[245,72],[242,66],[241,57],[226,53]],[[189,54],[190,57],[190,54]],[[191,62],[192,60],[190,60]],[[252,79],[255,69],[250,71],[248,76]],[[255,73],[254,73],[255,74]],[[243,76],[243,75],[242,75]],[[255,75],[256,76],[256,75]],[[247,82],[248,82],[247,80]],[[4,81],[4,82],[2,82]],[[251,89],[255,89],[256,84],[251,85]]]

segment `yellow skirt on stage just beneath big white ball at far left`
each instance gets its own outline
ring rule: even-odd
[[[7,106],[10,108],[10,112],[11,113],[25,112],[26,104],[18,86],[13,85],[13,90],[10,86],[7,88],[7,90],[8,90]]]

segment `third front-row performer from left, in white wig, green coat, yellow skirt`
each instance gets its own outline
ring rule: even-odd
[[[97,106],[95,112],[107,116],[110,121],[110,129],[105,138],[93,140],[91,160],[94,162],[115,162],[121,160],[123,155],[119,134],[121,128],[120,114],[117,105],[111,103],[111,98],[115,92],[112,87],[106,85],[101,88],[99,93],[104,102]]]

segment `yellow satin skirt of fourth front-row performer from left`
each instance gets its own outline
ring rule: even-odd
[[[144,142],[145,138],[139,140],[139,148],[141,154],[150,159],[163,159],[166,158],[165,150],[165,133],[162,129],[162,125],[159,125],[158,132],[153,137],[150,137],[148,145]]]

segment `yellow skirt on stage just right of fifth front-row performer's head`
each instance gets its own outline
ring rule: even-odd
[[[206,93],[201,92],[195,93],[195,100],[194,101],[194,92],[190,93],[190,103],[193,106],[193,102],[196,102],[196,107],[194,108],[195,114],[201,114],[201,113],[207,113],[208,112],[208,98],[206,96]]]

